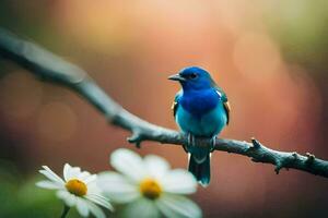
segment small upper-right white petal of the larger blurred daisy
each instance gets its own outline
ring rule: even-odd
[[[168,170],[168,162],[159,156],[148,155],[143,159],[145,167],[151,175],[161,179]]]

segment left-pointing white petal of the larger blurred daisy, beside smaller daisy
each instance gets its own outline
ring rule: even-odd
[[[128,203],[140,196],[136,184],[116,172],[103,172],[97,178],[97,185],[113,202]]]

